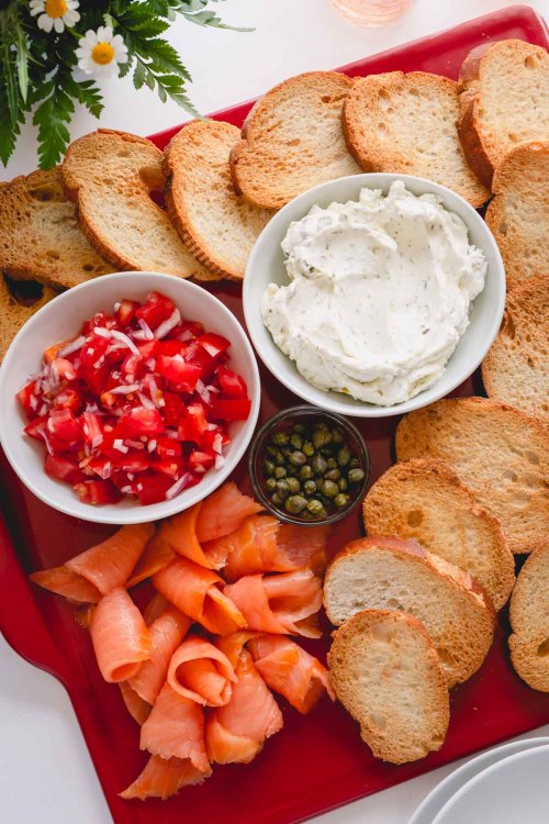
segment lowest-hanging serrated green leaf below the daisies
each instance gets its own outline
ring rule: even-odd
[[[51,93],[45,97],[34,112],[33,123],[38,126],[38,157],[42,169],[51,169],[56,166],[70,142],[69,131],[66,123],[75,111],[75,104],[65,91],[67,75],[57,71],[48,83],[44,83]]]

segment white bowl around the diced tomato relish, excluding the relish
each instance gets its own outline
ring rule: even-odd
[[[170,501],[142,505],[135,500],[93,506],[82,503],[70,485],[49,478],[44,471],[44,447],[23,434],[25,415],[15,399],[27,378],[41,368],[44,350],[58,341],[79,334],[83,321],[101,309],[112,311],[122,298],[143,301],[157,290],[181,311],[183,318],[200,321],[206,331],[231,341],[231,367],[243,376],[251,399],[247,421],[231,425],[232,442],[220,469],[210,469],[195,487],[183,490]],[[244,455],[257,422],[260,383],[257,363],[249,341],[236,318],[205,289],[170,275],[130,271],[104,275],[59,294],[43,307],[21,329],[0,367],[0,443],[23,483],[45,503],[85,521],[108,524],[137,524],[172,515],[192,506],[213,492],[233,471]]]

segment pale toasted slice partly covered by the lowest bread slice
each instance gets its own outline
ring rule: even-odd
[[[494,608],[484,590],[413,539],[348,543],[328,566],[324,605],[336,626],[361,610],[415,615],[435,644],[449,687],[477,672],[494,632]]]

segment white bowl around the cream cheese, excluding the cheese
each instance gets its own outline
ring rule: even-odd
[[[358,200],[360,189],[382,189],[386,194],[394,180],[403,180],[414,194],[437,194],[442,204],[456,212],[469,230],[469,240],[481,248],[488,259],[486,285],[472,305],[470,324],[449,359],[446,371],[432,387],[408,401],[393,407],[376,407],[357,401],[341,392],[330,392],[311,386],[295,368],[295,364],[276,346],[264,325],[260,312],[261,297],[269,283],[289,282],[281,248],[282,240],[292,221],[303,218],[315,203],[345,203]],[[246,267],[244,279],[244,313],[248,332],[266,367],[288,389],[309,403],[357,417],[386,417],[426,407],[442,398],[462,383],[482,361],[500,329],[505,305],[505,271],[497,245],[480,214],[456,192],[410,175],[352,175],[330,180],[303,192],[287,203],[259,235]]]

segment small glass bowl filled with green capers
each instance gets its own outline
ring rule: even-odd
[[[315,525],[362,500],[369,459],[357,427],[315,407],[293,407],[256,434],[249,471],[257,497],[281,521]]]

